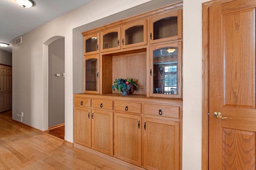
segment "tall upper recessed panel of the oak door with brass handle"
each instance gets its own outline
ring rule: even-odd
[[[255,108],[255,9],[223,15],[224,106]]]

